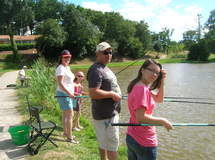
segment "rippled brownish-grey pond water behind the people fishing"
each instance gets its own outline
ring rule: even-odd
[[[123,68],[123,67],[122,67]],[[112,68],[114,72],[122,68]],[[138,67],[129,67],[117,75],[124,95],[129,82],[137,75]],[[167,80],[165,96],[215,99],[215,63],[165,64]],[[189,101],[215,102],[193,99]],[[127,102],[122,103],[121,122],[128,122]],[[90,109],[88,108],[88,111]],[[158,104],[155,116],[166,117],[174,123],[215,123],[215,105],[198,103]],[[157,127],[159,146],[158,160],[214,160],[215,127],[175,127],[167,132]],[[121,127],[121,144],[125,144],[126,127]]]

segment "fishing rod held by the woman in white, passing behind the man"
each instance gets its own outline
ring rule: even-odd
[[[69,96],[55,96],[55,98],[57,97],[69,97]],[[75,96],[75,98],[90,98],[89,96]],[[122,99],[128,99],[128,96],[122,96]],[[207,104],[207,105],[215,105],[215,103],[213,102],[193,102],[193,101],[186,101],[186,100],[172,100],[172,99],[164,99],[164,102],[178,102],[178,103],[197,103],[197,104]]]

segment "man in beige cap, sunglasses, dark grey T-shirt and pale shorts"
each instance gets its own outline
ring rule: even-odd
[[[99,141],[101,160],[116,160],[119,146],[121,91],[116,76],[107,67],[112,59],[112,47],[102,42],[96,47],[96,62],[89,68],[87,80],[92,99],[93,125]]]

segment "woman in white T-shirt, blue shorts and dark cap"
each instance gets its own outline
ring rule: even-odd
[[[79,142],[72,135],[72,117],[74,95],[74,74],[71,72],[69,63],[72,55],[68,50],[63,50],[60,55],[60,61],[56,69],[57,78],[57,100],[62,113],[62,124],[64,136],[68,142],[78,144]]]

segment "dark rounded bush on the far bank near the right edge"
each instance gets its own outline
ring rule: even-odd
[[[198,43],[190,47],[188,60],[207,61],[209,56],[208,40],[201,39]]]

